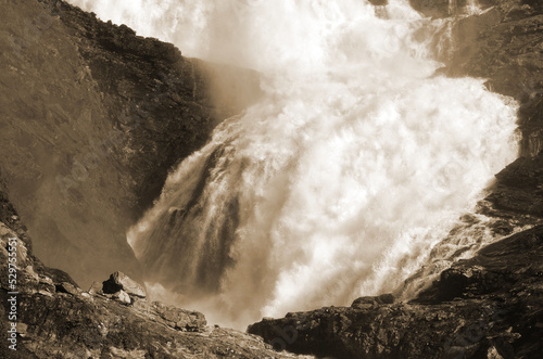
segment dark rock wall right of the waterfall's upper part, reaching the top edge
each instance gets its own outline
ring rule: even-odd
[[[444,73],[487,78],[494,92],[515,98],[520,156],[496,175],[488,201],[500,210],[543,217],[543,3],[489,0],[485,12],[462,18]],[[491,7],[491,8],[490,8]]]

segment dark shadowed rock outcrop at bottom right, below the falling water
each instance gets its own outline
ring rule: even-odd
[[[455,264],[409,303],[356,299],[263,320],[249,333],[277,349],[334,358],[539,358],[543,226]],[[494,355],[494,356],[492,356]]]

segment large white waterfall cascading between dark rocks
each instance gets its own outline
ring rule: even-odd
[[[211,321],[396,289],[517,155],[514,102],[434,76],[439,26],[407,0],[379,16],[363,0],[115,7],[186,54],[263,73],[264,100],[219,125],[128,233],[153,287]]]

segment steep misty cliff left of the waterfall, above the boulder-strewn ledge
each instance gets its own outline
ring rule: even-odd
[[[0,7],[0,168],[37,255],[85,286],[138,278],[127,228],[168,169],[258,95],[256,75],[63,1]]]

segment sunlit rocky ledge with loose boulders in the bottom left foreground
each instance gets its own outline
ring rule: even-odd
[[[16,243],[17,283],[10,287],[8,266],[0,266],[0,358],[294,358],[277,354],[258,337],[206,326],[202,313],[140,296],[130,304],[94,291],[85,292],[66,273],[45,267],[31,249],[26,228],[8,201],[0,181],[0,260],[8,262]],[[112,275],[113,277],[113,275]],[[126,278],[123,280],[126,282]],[[11,302],[16,290],[16,309]],[[98,291],[99,292],[99,291]],[[126,300],[128,297],[128,300]],[[119,303],[124,302],[124,303]],[[10,317],[16,312],[16,318]]]

